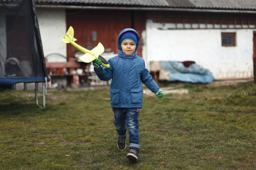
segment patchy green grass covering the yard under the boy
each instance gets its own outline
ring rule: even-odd
[[[0,169],[255,169],[253,82],[177,88],[144,96],[138,163],[117,148],[109,89],[48,91],[46,111],[34,91],[1,92]]]

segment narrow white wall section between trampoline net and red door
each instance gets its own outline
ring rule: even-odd
[[[65,9],[62,8],[36,8],[40,35],[43,44],[44,56],[51,53],[60,53],[67,56],[67,45],[61,39],[65,36],[66,19]],[[65,62],[60,56],[48,57],[48,62]]]

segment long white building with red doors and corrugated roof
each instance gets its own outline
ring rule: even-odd
[[[87,30],[88,27],[97,25],[92,29],[106,31],[106,26],[114,25],[113,28],[116,28],[115,25],[123,24],[119,20],[112,22],[114,17],[122,15],[122,12],[130,12],[129,26],[141,35],[142,44],[138,54],[144,58],[148,69],[151,70],[151,61],[195,61],[201,67],[209,69],[215,79],[254,76],[256,1],[159,0],[153,3],[138,0],[129,4],[126,1],[79,2],[36,1],[45,56],[60,53],[68,58],[73,57],[73,51],[71,52],[67,45],[61,42],[68,25],[75,24],[75,27],[84,27]],[[91,16],[84,15],[83,12],[88,12],[86,14]],[[97,17],[108,20],[109,24],[99,21],[94,25],[85,25],[92,21],[88,18]],[[127,27],[125,24],[122,26]],[[121,28],[109,29],[105,35],[116,38]],[[85,29],[84,31],[86,33]],[[76,39],[85,39],[84,34],[79,34]],[[100,33],[98,40],[104,41]],[[105,44],[105,47],[117,53],[114,45]],[[65,62],[61,57],[51,59],[53,62]]]

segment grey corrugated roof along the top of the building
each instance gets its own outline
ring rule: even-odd
[[[13,0],[2,0],[10,2]],[[77,7],[134,7],[139,9],[165,8],[175,10],[180,8],[204,10],[247,10],[256,11],[256,0],[35,0],[36,5],[77,6]]]

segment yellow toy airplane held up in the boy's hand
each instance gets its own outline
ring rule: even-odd
[[[75,48],[80,50],[80,52],[84,53],[82,57],[79,57],[82,62],[89,63],[92,62],[94,59],[98,58],[101,60],[102,66],[106,68],[110,67],[108,61],[106,61],[106,59],[101,56],[101,54],[104,53],[104,46],[101,44],[101,42],[98,42],[98,45],[94,49],[88,50],[76,44],[75,41],[76,39],[74,38],[74,29],[72,27],[69,27],[64,39],[62,39],[62,42],[64,42],[65,44],[71,43],[73,46],[75,46]]]

